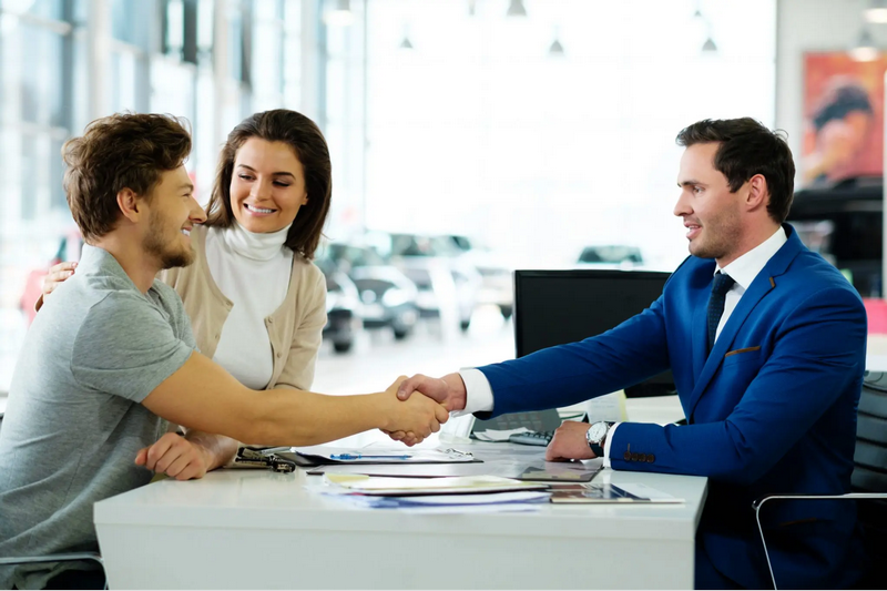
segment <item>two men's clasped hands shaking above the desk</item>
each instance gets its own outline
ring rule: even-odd
[[[419,396],[411,396],[412,394]],[[459,374],[430,378],[417,374],[400,376],[385,393],[388,421],[381,430],[395,441],[412,447],[447,422],[449,412],[462,410],[466,387]]]

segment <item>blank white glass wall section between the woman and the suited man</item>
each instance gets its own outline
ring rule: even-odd
[[[367,224],[477,236],[522,266],[623,244],[674,268],[674,137],[773,125],[775,1],[522,6],[369,2]]]

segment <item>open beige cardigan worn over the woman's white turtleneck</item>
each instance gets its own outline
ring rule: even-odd
[[[206,226],[195,225],[191,231],[191,244],[197,255],[191,266],[163,271],[157,278],[175,289],[182,298],[185,312],[191,317],[197,346],[201,353],[212,358],[233,304],[210,274],[206,263],[207,230]],[[324,274],[310,261],[295,254],[286,299],[265,318],[274,355],[267,389],[310,388],[325,325]]]

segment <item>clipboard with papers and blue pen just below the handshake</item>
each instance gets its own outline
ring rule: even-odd
[[[313,446],[290,448],[289,451],[277,451],[277,456],[290,459],[299,466],[320,465],[366,465],[366,463],[471,463],[480,462],[473,455],[458,449],[440,447],[437,449],[398,448],[338,448]]]

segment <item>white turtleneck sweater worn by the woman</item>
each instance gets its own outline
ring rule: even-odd
[[[248,388],[271,381],[273,351],[265,318],[286,298],[293,251],[284,246],[289,226],[255,234],[237,222],[206,233],[210,273],[233,306],[213,360]]]

